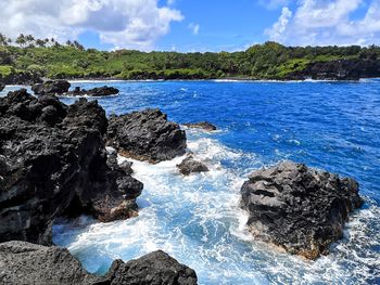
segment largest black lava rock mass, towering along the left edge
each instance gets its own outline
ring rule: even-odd
[[[107,159],[105,112],[25,89],[0,99],[0,242],[51,243],[61,215],[136,216],[142,183]]]

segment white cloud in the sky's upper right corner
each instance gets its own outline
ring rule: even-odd
[[[355,12],[364,4],[364,0],[301,0],[294,12],[283,8],[265,34],[290,46],[380,43],[380,0],[372,0],[357,20]]]

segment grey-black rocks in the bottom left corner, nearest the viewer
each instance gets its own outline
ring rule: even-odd
[[[0,244],[0,283],[39,285],[195,285],[195,272],[159,250],[136,260],[115,260],[105,276],[85,271],[67,249],[25,242]]]

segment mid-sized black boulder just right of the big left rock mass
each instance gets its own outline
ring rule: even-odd
[[[122,155],[151,163],[173,159],[186,152],[185,131],[160,109],[112,115],[107,140],[107,145]]]

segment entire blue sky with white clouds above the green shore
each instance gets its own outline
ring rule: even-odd
[[[0,33],[101,50],[369,46],[380,44],[380,0],[0,0]]]

